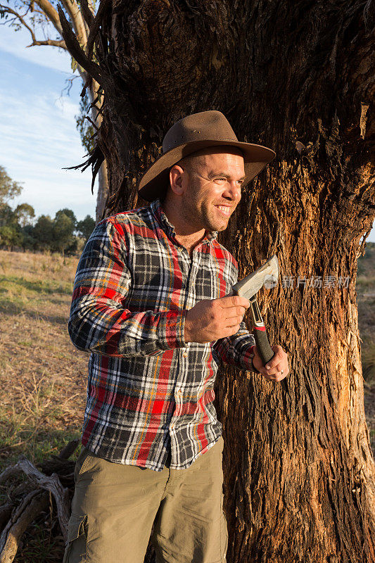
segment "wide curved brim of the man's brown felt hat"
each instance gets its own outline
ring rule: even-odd
[[[255,176],[263,170],[267,164],[276,156],[271,148],[253,143],[243,143],[241,141],[217,141],[206,139],[204,141],[193,141],[171,148],[160,156],[144,173],[139,182],[138,194],[146,201],[154,201],[169,184],[169,170],[174,164],[191,153],[200,151],[202,148],[210,146],[234,146],[243,152],[243,160],[246,178],[243,185],[248,184]]]

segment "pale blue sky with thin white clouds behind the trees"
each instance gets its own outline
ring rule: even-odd
[[[28,44],[25,30],[0,26],[0,165],[23,183],[11,204],[30,203],[37,216],[70,208],[78,220],[95,217],[91,170],[63,170],[84,159],[75,125],[82,81],[77,77],[70,95],[63,93],[72,76],[68,53]],[[375,242],[374,228],[367,240]]]

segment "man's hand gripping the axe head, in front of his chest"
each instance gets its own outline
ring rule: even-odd
[[[185,342],[213,342],[239,331],[248,299],[236,295],[198,301],[185,319]]]

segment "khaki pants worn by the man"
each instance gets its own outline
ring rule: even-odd
[[[187,469],[155,472],[82,449],[63,563],[225,563],[220,436]]]

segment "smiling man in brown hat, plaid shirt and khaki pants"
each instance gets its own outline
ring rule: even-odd
[[[141,179],[151,205],[91,234],[69,321],[91,356],[65,563],[143,563],[152,526],[158,563],[225,561],[217,368],[280,381],[288,362],[273,346],[262,365],[217,232],[272,158],[239,142],[222,113],[189,115]]]

